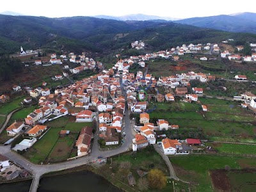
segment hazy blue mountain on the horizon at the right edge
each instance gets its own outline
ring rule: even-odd
[[[256,34],[256,13],[240,13],[239,15],[217,15],[211,17],[193,17],[176,20],[180,24],[189,24],[200,28],[211,28],[230,32]],[[250,20],[249,20],[250,19]]]

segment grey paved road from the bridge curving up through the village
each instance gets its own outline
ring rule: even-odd
[[[120,77],[120,86],[122,88],[123,95],[125,95],[125,112],[124,112],[124,132],[126,134],[124,138],[124,143],[121,145],[121,147],[113,149],[113,150],[108,150],[108,151],[100,151],[99,150],[99,144],[98,144],[98,134],[95,134],[94,140],[93,140],[93,145],[92,145],[92,152],[88,156],[84,157],[79,157],[77,159],[71,160],[71,161],[65,161],[63,163],[54,163],[54,164],[33,164],[27,159],[25,159],[23,156],[20,156],[19,154],[13,152],[10,148],[10,145],[6,146],[0,146],[0,154],[3,156],[8,157],[11,161],[19,164],[33,175],[33,181],[31,183],[30,190],[31,192],[36,192],[38,189],[40,177],[44,175],[45,173],[49,172],[57,172],[60,170],[65,170],[69,168],[75,168],[77,166],[82,166],[84,164],[88,163],[93,163],[93,161],[96,161],[99,156],[102,157],[111,157],[115,156],[117,154],[121,154],[123,152],[127,152],[131,150],[132,148],[132,127],[131,127],[131,122],[130,122],[130,117],[129,117],[129,111],[128,111],[128,106],[127,106],[127,95],[124,92],[124,87],[122,84],[122,76]],[[16,110],[15,110],[16,111]],[[1,129],[4,129],[5,125],[8,123],[10,120],[10,117],[12,114],[15,112],[12,111],[6,118],[6,122],[4,123],[3,127]],[[3,130],[1,130],[3,131]]]

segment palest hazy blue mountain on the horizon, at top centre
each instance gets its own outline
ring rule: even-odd
[[[115,20],[178,20],[173,17],[159,17],[155,15],[144,15],[144,14],[131,14],[123,15],[120,17],[108,16],[108,15],[96,15],[96,18],[101,19],[115,19]]]

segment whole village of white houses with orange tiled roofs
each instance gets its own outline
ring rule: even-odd
[[[232,40],[225,42],[228,41]],[[223,43],[225,44],[225,42]],[[132,49],[138,50],[145,47],[142,41],[133,42],[131,45]],[[254,45],[251,44],[255,51],[256,46]],[[240,51],[243,49],[242,47],[238,48]],[[84,70],[99,68],[100,72],[79,81],[70,81],[67,86],[57,87],[54,90],[47,87],[47,82],[42,82],[42,86],[36,88],[22,87],[19,84],[13,85],[12,92],[16,94],[26,92],[26,96],[20,102],[22,108],[35,107],[31,113],[26,114],[25,118],[15,120],[1,129],[0,138],[3,133],[6,134],[3,145],[12,145],[12,150],[36,164],[69,161],[82,156],[90,157],[93,152],[97,154],[95,161],[106,163],[106,157],[102,154],[106,151],[114,151],[124,144],[129,145],[129,150],[133,152],[154,145],[159,154],[169,157],[214,153],[216,150],[209,143],[208,138],[196,134],[199,130],[199,128],[195,128],[196,125],[193,125],[195,130],[192,133],[180,135],[183,129],[191,126],[189,122],[193,122],[190,117],[188,124],[186,121],[182,121],[185,119],[186,113],[195,115],[196,120],[222,121],[224,113],[217,109],[218,106],[215,103],[220,102],[228,112],[232,111],[232,108],[241,113],[245,113],[244,110],[250,111],[246,112],[249,114],[246,116],[246,120],[251,123],[255,118],[256,95],[251,90],[244,90],[241,96],[233,95],[234,98],[231,100],[225,97],[220,99],[209,97],[204,93],[205,86],[193,86],[195,82],[205,85],[220,79],[209,72],[177,72],[175,75],[160,77],[155,77],[148,72],[150,65],[153,65],[150,63],[152,60],[180,61],[184,54],[196,53],[200,56],[204,55],[196,57],[196,59],[205,62],[212,60],[212,55],[239,62],[242,60],[256,61],[255,53],[252,53],[252,56],[240,56],[230,54],[227,50],[221,52],[218,44],[182,45],[169,51],[127,58],[121,58],[118,54],[116,55],[117,62],[109,69],[104,67],[104,63],[86,56],[85,52],[79,55],[70,52],[60,56],[52,53],[49,61],[35,60],[34,65],[36,66],[44,65],[44,63],[63,65],[63,73],[52,77],[54,81],[68,78],[70,74],[79,74]],[[22,47],[20,54],[26,55]],[[251,59],[249,60],[249,58]],[[72,66],[76,64],[77,67],[70,68],[68,63],[72,63]],[[134,66],[138,66],[139,70],[131,72],[130,70]],[[227,81],[246,83],[250,79],[241,74],[234,75]],[[1,95],[0,102],[3,104],[10,102],[10,96]],[[175,108],[179,108],[179,110]],[[226,111],[224,112],[226,113]],[[184,115],[184,118],[175,117],[175,113],[180,116]],[[239,117],[230,115],[227,118],[236,122]],[[239,120],[241,119],[239,118]],[[211,138],[215,139],[214,136]],[[228,137],[228,135],[224,137]],[[234,137],[236,138],[236,136]],[[46,143],[51,138],[56,138],[56,142],[50,142],[49,149],[51,148],[51,150],[47,154],[42,154],[42,146],[33,148],[36,143]],[[66,144],[61,144],[61,142]],[[67,147],[62,145],[67,145]],[[58,159],[60,156],[61,158]],[[6,163],[10,160],[6,157],[2,159],[0,159],[3,170],[1,173],[6,168],[10,168],[10,163]],[[20,169],[19,166],[17,169]],[[19,170],[19,172],[25,174],[23,171]],[[20,174],[18,175],[20,176]],[[30,177],[29,173],[25,175]],[[6,179],[10,179],[10,176]]]

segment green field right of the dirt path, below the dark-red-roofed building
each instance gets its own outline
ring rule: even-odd
[[[226,165],[239,169],[241,159],[243,158],[209,155],[170,157],[177,176],[191,182],[196,187],[196,191],[214,191],[209,170],[224,169]]]

